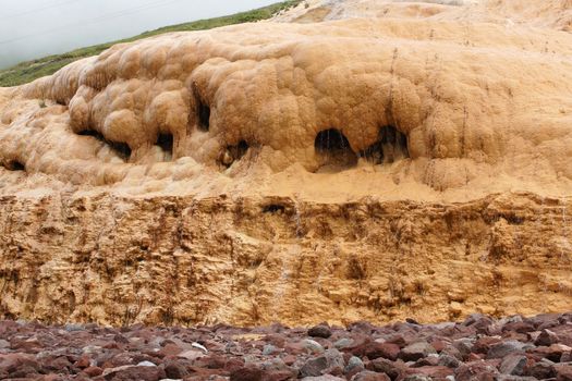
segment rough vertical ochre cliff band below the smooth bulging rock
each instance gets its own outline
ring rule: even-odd
[[[349,323],[567,310],[569,199],[3,197],[5,316]]]

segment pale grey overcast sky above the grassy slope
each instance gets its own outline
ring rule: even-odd
[[[0,0],[0,69],[279,0]]]

